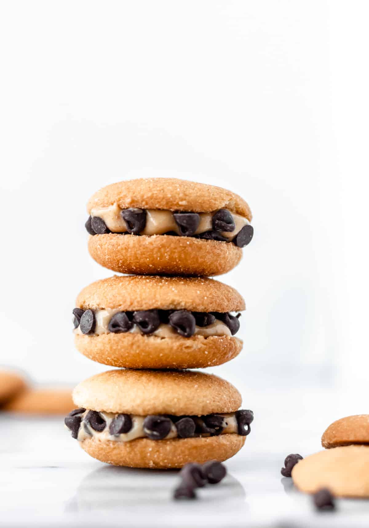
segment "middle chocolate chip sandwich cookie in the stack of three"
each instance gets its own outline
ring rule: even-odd
[[[220,365],[242,341],[237,291],[198,277],[112,277],[84,288],[73,309],[79,352],[105,365],[186,369]],[[232,314],[233,312],[234,314]]]

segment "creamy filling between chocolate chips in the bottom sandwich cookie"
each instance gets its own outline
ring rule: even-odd
[[[103,431],[95,431],[89,423],[86,423],[84,421],[84,418],[86,414],[89,411],[86,410],[83,413],[78,414],[79,417],[81,417],[81,424],[79,427],[77,440],[80,442],[83,442],[87,438],[96,438],[100,441],[106,441],[106,440],[112,440],[115,442],[128,442],[130,440],[135,440],[136,438],[145,438],[147,437],[147,433],[144,430],[144,420],[145,416],[138,416],[136,414],[131,414],[132,419],[132,428],[130,431],[126,433],[121,433],[119,435],[110,435],[109,428],[110,423],[112,423],[113,419],[116,418],[117,414],[114,414],[112,412],[102,412],[100,411],[100,416],[104,418],[106,421],[106,426]],[[227,433],[238,433],[238,425],[237,425],[237,419],[235,416],[235,413],[217,413],[218,416],[223,416],[223,423],[222,423],[222,432],[220,432],[221,435],[225,435]],[[200,417],[191,417],[195,421],[201,420]],[[208,437],[210,436],[209,433],[195,433],[193,435],[194,437]],[[171,421],[171,428],[167,436],[163,438],[163,440],[169,440],[170,438],[177,438],[177,428],[174,422]]]

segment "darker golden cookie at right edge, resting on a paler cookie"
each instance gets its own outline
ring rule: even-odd
[[[321,437],[321,445],[326,449],[350,444],[369,444],[369,414],[340,418]]]

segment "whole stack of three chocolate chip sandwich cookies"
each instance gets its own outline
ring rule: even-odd
[[[88,213],[91,256],[139,275],[96,281],[77,297],[78,350],[124,370],[76,387],[71,436],[118,466],[180,468],[235,455],[252,411],[239,409],[230,383],[182,369],[220,365],[242,349],[242,296],[204,275],[241,259],[253,235],[247,203],[219,187],[156,178],[103,188]]]

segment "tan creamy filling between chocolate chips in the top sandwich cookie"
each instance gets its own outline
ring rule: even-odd
[[[91,209],[90,215],[92,218],[98,216],[105,222],[106,227],[113,233],[125,233],[127,232],[127,225],[121,215],[122,209],[117,203],[110,205],[107,208],[94,208]],[[213,230],[213,216],[216,211],[212,213],[198,213],[200,216],[199,227],[193,233],[194,235],[205,233],[206,231]],[[222,231],[221,234],[226,239],[233,240],[236,235],[241,231],[244,225],[250,224],[247,218],[236,213],[230,213],[233,216],[235,223],[235,229],[232,232]],[[180,230],[174,220],[172,211],[161,211],[158,209],[146,209],[146,225],[140,234],[154,235],[164,234],[169,231],[174,231],[178,235]]]

